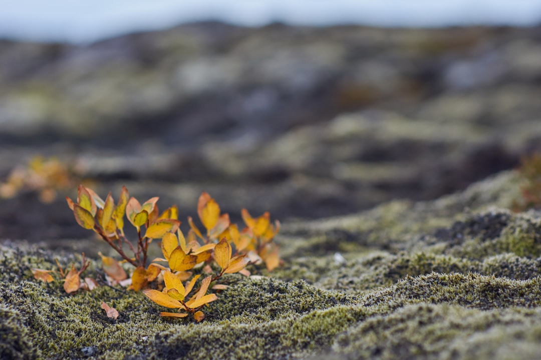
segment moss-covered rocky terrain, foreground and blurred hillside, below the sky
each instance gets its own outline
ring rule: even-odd
[[[282,266],[230,275],[194,323],[120,287],[33,279],[83,251],[103,278],[107,247],[62,199],[76,184],[1,199],[0,357],[541,355],[541,214],[510,212],[508,170],[541,151],[540,28],[207,23],[0,54],[0,178],[56,155],[181,219],[207,191],[236,222],[246,207],[283,223]]]

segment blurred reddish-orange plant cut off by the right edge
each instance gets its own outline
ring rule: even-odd
[[[525,180],[525,184],[520,189],[522,199],[514,200],[512,209],[521,212],[541,208],[541,154],[523,157],[518,172]]]

